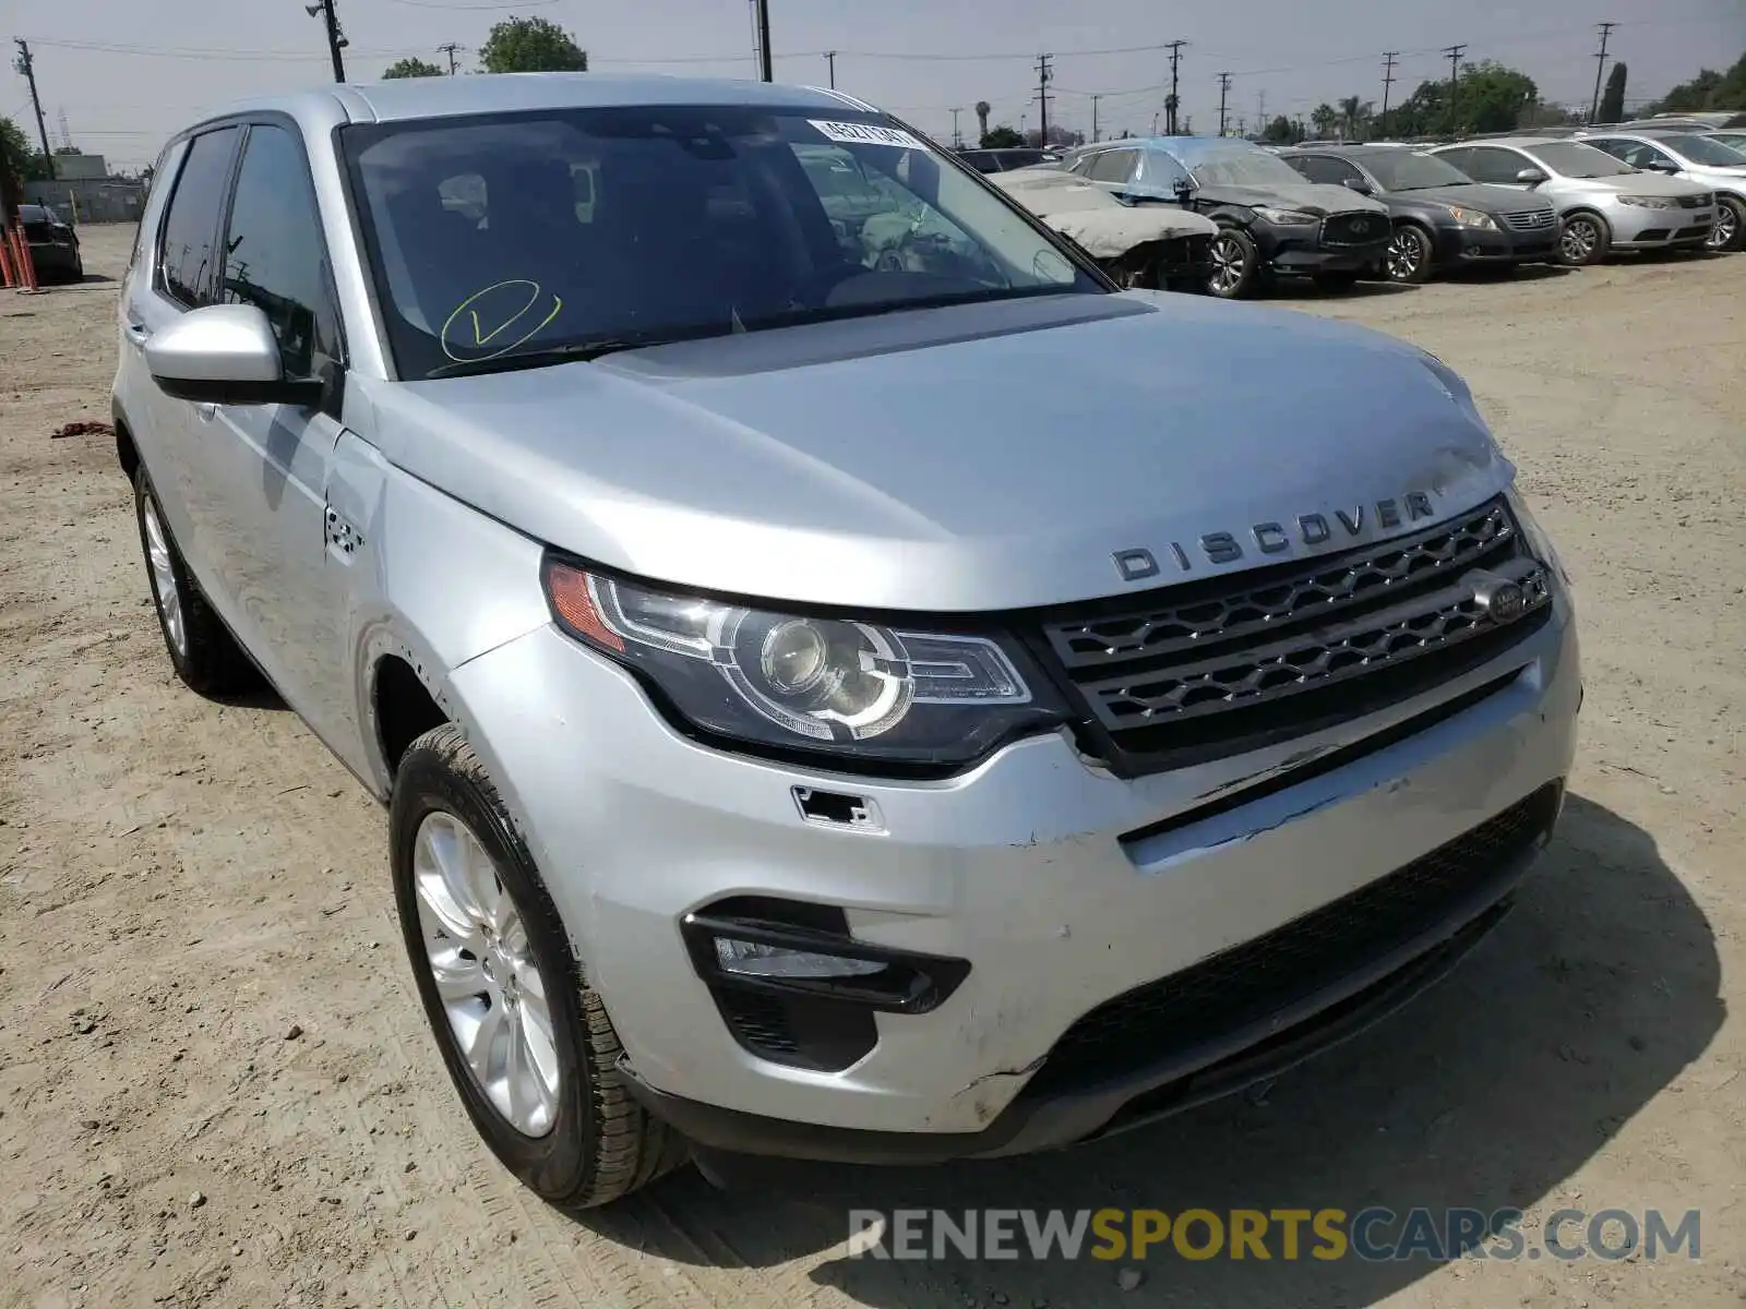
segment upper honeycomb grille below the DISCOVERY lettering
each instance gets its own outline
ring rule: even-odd
[[[1528,599],[1495,621],[1475,569]],[[1533,632],[1549,579],[1503,499],[1413,536],[1109,602],[1044,627],[1088,747],[1126,773],[1259,749],[1419,695]]]

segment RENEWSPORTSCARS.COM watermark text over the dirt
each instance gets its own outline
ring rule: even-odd
[[[1701,1215],[1556,1210],[850,1210],[856,1258],[1578,1260],[1701,1258]]]

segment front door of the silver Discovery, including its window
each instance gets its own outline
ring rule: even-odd
[[[356,719],[346,674],[346,527],[327,515],[340,436],[344,340],[302,136],[250,122],[223,227],[220,304],[262,309],[286,379],[325,384],[302,405],[218,405],[201,450],[222,510],[211,539],[232,628],[327,740]]]

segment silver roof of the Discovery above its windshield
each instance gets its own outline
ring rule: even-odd
[[[400,122],[463,113],[513,113],[543,108],[608,108],[615,105],[784,105],[819,112],[868,112],[873,105],[840,91],[753,82],[726,77],[662,77],[651,73],[480,73],[475,77],[405,77],[257,96],[225,105],[210,117],[251,110],[297,113],[314,101],[339,99],[354,122]]]

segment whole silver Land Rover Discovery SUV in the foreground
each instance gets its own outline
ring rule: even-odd
[[[1570,592],[1419,349],[1121,293],[828,91],[339,86],[155,178],[113,412],[169,660],[386,805],[436,1047],[553,1203],[1240,1087],[1549,840]]]

